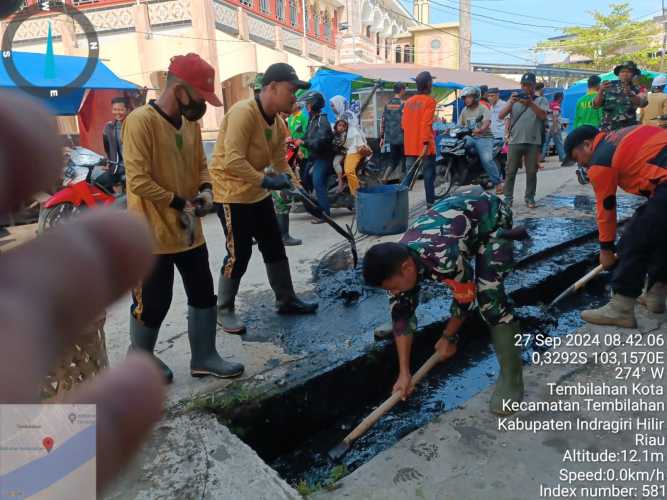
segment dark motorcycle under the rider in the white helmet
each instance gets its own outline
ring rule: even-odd
[[[467,139],[471,136],[471,128],[453,127],[449,129],[447,136],[442,139],[440,143],[442,159],[439,162],[439,175],[443,181],[440,186],[436,182],[437,196],[446,196],[454,185],[478,184],[484,189],[493,187],[482,167],[475,146]],[[500,172],[504,171],[502,147],[500,141],[494,141],[493,158],[498,164]]]

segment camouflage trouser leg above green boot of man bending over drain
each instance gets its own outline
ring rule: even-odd
[[[476,302],[484,322],[490,326],[510,323],[514,316],[505,292],[505,276],[512,268],[514,243],[489,238],[475,256]]]

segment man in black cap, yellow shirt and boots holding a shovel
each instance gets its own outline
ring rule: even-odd
[[[232,106],[220,126],[211,176],[216,209],[227,238],[218,287],[218,323],[227,333],[242,334],[246,330],[235,314],[234,302],[250,261],[253,238],[262,252],[278,313],[312,314],[317,309],[317,304],[299,300],[294,292],[270,196],[271,190],[298,183],[285,159],[288,132],[278,113],[290,113],[296,102],[294,93],[309,87],[290,65],[273,64],[264,73],[262,90],[254,98]]]

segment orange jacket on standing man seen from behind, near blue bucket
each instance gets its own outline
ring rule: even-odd
[[[405,101],[403,106],[403,149],[405,156],[419,156],[428,144],[428,154],[435,154],[433,117],[435,99],[430,95],[418,94]]]

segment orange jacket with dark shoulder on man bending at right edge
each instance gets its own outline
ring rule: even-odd
[[[650,197],[658,184],[667,182],[667,130],[635,125],[600,132],[593,148],[588,177],[595,190],[600,247],[613,250],[616,189]]]

